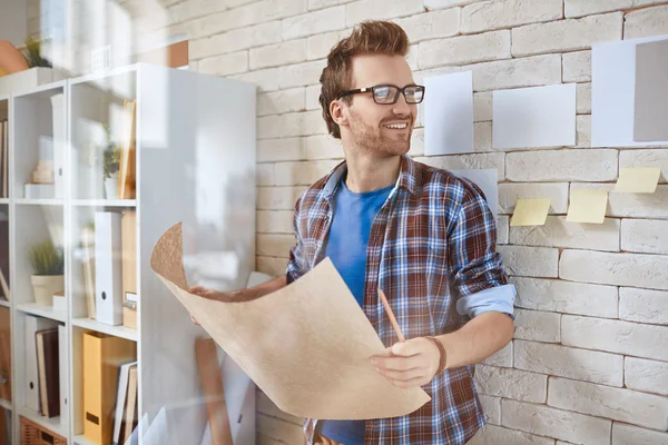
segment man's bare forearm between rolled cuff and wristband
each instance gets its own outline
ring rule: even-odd
[[[514,323],[505,314],[489,312],[461,329],[436,337],[445,346],[448,368],[480,363],[503,348],[513,336]]]

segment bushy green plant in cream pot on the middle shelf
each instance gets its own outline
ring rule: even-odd
[[[38,243],[30,249],[31,277],[36,303],[51,306],[53,294],[65,290],[62,251],[50,239]]]

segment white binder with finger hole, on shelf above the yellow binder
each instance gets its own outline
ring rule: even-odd
[[[122,324],[121,214],[95,214],[95,309],[96,319]]]

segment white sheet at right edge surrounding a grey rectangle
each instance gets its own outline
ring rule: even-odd
[[[591,147],[666,146],[636,142],[636,46],[668,36],[597,43],[591,47]]]

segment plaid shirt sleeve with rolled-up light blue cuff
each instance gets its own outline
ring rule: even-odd
[[[508,283],[497,253],[497,220],[478,186],[464,184],[468,187],[448,243],[456,309],[470,317],[492,310],[513,317],[517,290]]]

